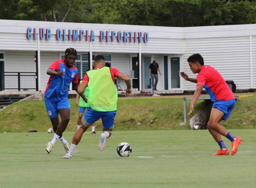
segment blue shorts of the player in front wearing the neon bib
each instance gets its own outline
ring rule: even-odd
[[[92,110],[92,108],[89,107],[87,109],[87,111],[85,112],[85,114],[84,114],[84,119],[88,123],[92,124],[92,123],[96,122],[98,119],[101,118],[103,127],[105,129],[110,129],[114,125],[116,113],[117,113],[116,111],[113,111],[113,112],[98,112],[98,111]]]

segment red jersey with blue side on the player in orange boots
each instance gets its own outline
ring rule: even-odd
[[[233,92],[220,73],[209,65],[202,66],[197,75],[197,85],[203,85],[211,101],[235,99]]]

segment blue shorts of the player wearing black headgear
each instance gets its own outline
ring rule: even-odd
[[[45,97],[44,102],[49,118],[57,117],[59,115],[59,109],[67,108],[70,110],[67,97],[62,98],[61,100],[48,99]]]

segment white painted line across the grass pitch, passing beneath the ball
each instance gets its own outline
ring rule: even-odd
[[[255,151],[238,151],[237,153],[248,153],[248,152],[256,152]],[[198,156],[212,156],[207,154],[201,154],[201,155],[174,155],[174,156],[160,156],[164,158],[169,157],[198,157]],[[256,155],[250,155],[250,156],[239,156],[235,155],[234,157],[256,157]],[[127,158],[127,157],[73,157],[72,159],[87,159],[87,158]],[[155,158],[153,156],[135,156],[135,157],[128,157],[128,158]],[[157,158],[157,157],[156,157]],[[10,158],[0,158],[0,159],[62,159],[62,157],[10,157]]]

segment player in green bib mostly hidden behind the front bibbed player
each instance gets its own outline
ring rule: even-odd
[[[85,74],[88,72],[89,70],[85,71]],[[79,84],[82,83],[82,80],[80,81]],[[86,87],[86,89],[84,90],[84,95],[86,97],[89,96],[89,93],[90,93],[90,90],[89,90],[89,87]],[[79,94],[77,94],[77,98],[76,98],[76,106],[79,108],[78,110],[78,119],[77,119],[77,129],[79,129],[79,127],[81,126],[81,123],[82,123],[82,117],[83,117],[83,114],[86,110],[86,108],[89,107],[89,104],[86,103],[82,97],[80,97]],[[92,135],[96,135],[96,132],[95,132],[95,123],[93,123],[91,125],[92,127]]]

